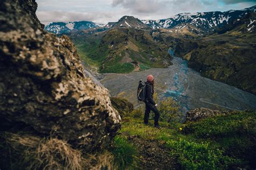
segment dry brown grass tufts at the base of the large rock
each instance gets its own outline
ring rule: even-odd
[[[6,135],[7,134],[7,135]],[[6,133],[10,167],[24,169],[116,169],[110,152],[82,154],[64,140]],[[14,159],[14,157],[16,157]]]

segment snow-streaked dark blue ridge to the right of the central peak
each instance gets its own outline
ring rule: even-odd
[[[247,13],[255,12],[256,5],[244,10],[229,10],[225,12],[197,12],[179,13],[173,17],[160,20],[142,20],[153,29],[172,29],[175,26],[193,25],[204,32],[214,32],[215,28],[222,28],[228,23],[234,23]]]

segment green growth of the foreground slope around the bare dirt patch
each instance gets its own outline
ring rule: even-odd
[[[245,167],[255,168],[255,137],[256,137],[256,113],[237,112],[227,116],[215,116],[202,119],[195,123],[170,125],[161,122],[163,127],[158,130],[152,126],[144,125],[142,118],[124,118],[122,130],[116,140],[123,139],[123,143],[129,145],[131,136],[137,136],[143,140],[156,140],[159,145],[170,148],[170,157],[176,157],[178,163],[184,169],[215,169]],[[153,125],[153,122],[150,123]],[[129,150],[132,150],[132,144]],[[119,143],[117,148],[122,148]],[[125,150],[125,148],[123,148]],[[114,150],[113,152],[115,152]],[[143,161],[142,153],[136,148],[133,152],[126,152],[133,161],[125,161],[119,157],[120,165],[125,167],[138,167]]]

